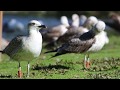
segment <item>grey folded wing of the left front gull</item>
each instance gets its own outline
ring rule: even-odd
[[[22,38],[17,36],[9,43],[9,45],[3,50],[4,53],[11,56],[16,53],[22,47]]]

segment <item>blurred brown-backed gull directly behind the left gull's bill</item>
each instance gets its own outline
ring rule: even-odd
[[[48,41],[45,47],[55,46],[57,39],[67,32],[68,27],[70,26],[68,18],[66,16],[61,16],[60,22],[60,25],[49,28],[46,30],[46,33],[42,35],[44,41]]]

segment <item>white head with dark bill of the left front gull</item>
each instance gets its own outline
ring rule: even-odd
[[[42,25],[39,21],[37,20],[31,20],[29,23],[28,23],[28,28],[31,30],[31,29],[36,29],[36,30],[40,30],[42,28],[46,28],[45,25]]]

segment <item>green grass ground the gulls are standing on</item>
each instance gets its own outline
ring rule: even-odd
[[[23,79],[118,79],[120,78],[120,35],[108,32],[110,43],[90,54],[91,68],[83,67],[84,54],[65,54],[49,59],[55,53],[43,54],[30,62],[30,77],[26,77],[27,62],[22,61]],[[2,55],[1,79],[18,79],[18,62]]]

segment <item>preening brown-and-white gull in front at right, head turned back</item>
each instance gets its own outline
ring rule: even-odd
[[[88,32],[83,33],[78,38],[70,39],[68,42],[62,44],[62,46],[55,50],[47,51],[45,53],[57,52],[53,57],[66,53],[85,53],[84,67],[89,69],[89,53],[101,50],[105,44],[104,38],[101,38],[100,34],[104,31],[105,26],[106,25],[103,21],[98,21],[98,23]]]

